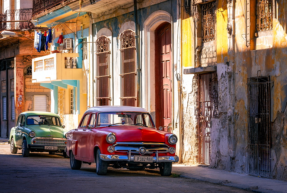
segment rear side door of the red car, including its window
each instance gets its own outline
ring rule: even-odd
[[[81,149],[80,139],[81,139],[83,129],[86,130],[86,126],[88,124],[89,118],[90,118],[90,113],[84,114],[78,128],[76,128],[73,133],[72,149],[76,157],[82,157],[81,150],[80,150]]]

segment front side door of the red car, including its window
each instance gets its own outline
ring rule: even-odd
[[[83,128],[81,140],[80,140],[80,151],[81,151],[81,157],[83,158],[91,158],[91,144],[90,144],[90,138],[92,133],[92,128],[95,127],[96,124],[96,114],[92,113],[90,115],[90,119],[88,120],[88,124],[86,125],[86,128]]]

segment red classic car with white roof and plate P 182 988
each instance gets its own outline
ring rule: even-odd
[[[179,161],[176,135],[157,130],[148,111],[139,107],[89,108],[78,128],[66,136],[71,168],[96,163],[98,175],[114,167],[132,171],[159,168],[162,176],[169,176],[172,162]]]

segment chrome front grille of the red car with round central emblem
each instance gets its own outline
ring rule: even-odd
[[[149,153],[166,153],[168,152],[169,146],[164,143],[141,143],[141,142],[118,142],[113,145],[115,147],[115,152],[128,152],[131,150],[131,153],[139,153],[139,148],[146,148],[146,154]]]

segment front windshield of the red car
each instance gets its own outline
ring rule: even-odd
[[[108,125],[138,125],[154,127],[152,117],[149,113],[142,112],[105,112],[99,113],[97,126]]]

